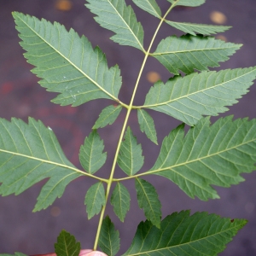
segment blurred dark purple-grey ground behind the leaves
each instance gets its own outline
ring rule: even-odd
[[[170,4],[166,0],[157,2],[162,10],[166,10]],[[138,9],[130,0],[126,3],[134,7],[137,20],[143,24],[147,48],[159,20]],[[38,85],[38,79],[30,72],[32,66],[26,63],[22,55],[24,51],[19,45],[20,39],[15,31],[12,11],[34,15],[52,22],[57,21],[67,29],[73,27],[79,35],[84,34],[89,38],[93,46],[99,45],[107,55],[109,67],[118,64],[121,69],[123,87],[119,98],[125,103],[130,102],[137,73],[143,61],[143,54],[137,49],[119,46],[109,40],[113,33],[96,24],[93,15],[84,8],[84,0],[0,0],[0,116],[4,119],[16,117],[25,121],[28,116],[41,119],[44,125],[50,126],[55,131],[67,158],[80,167],[79,147],[84,143],[84,137],[89,135],[102,108],[109,105],[109,101],[88,102],[78,108],[60,107],[51,103],[50,100],[55,97],[55,94],[47,92]],[[174,9],[169,18],[175,21],[233,26],[230,31],[220,33],[217,37],[227,42],[243,44],[243,47],[236,55],[230,57],[230,61],[220,63],[221,68],[255,66],[255,0],[207,0],[207,3],[198,8]],[[171,26],[162,26],[154,47],[161,38],[172,34],[181,35],[182,32]],[[170,73],[158,61],[149,59],[135,104],[143,104],[144,96],[150,86],[158,79],[166,82],[169,76]],[[234,114],[235,118],[247,116],[255,118],[255,95],[256,86],[252,87],[247,96],[244,96],[223,116]],[[163,138],[179,125],[179,122],[165,114],[153,111],[150,114],[154,117],[156,129],[159,131],[158,141],[161,144]],[[107,163],[98,172],[101,177],[109,176],[124,117],[125,111],[123,110],[113,125],[99,130],[108,151]],[[160,147],[151,143],[139,131],[136,112],[131,113],[129,125],[137,136],[138,143],[143,145],[145,164],[142,171],[147,171],[154,165]],[[115,177],[124,177],[124,175],[118,170]],[[190,199],[177,188],[177,185],[163,177],[146,177],[145,179],[154,184],[160,195],[163,217],[172,212],[190,209],[192,213],[207,211],[217,213],[222,217],[248,219],[249,223],[220,255],[253,256],[256,255],[256,172],[244,174],[243,177],[247,179],[244,183],[232,186],[230,189],[216,188],[221,199],[207,202]],[[51,207],[32,213],[44,183],[45,181],[38,183],[18,196],[0,197],[0,253],[54,252],[56,237],[62,229],[76,236],[83,248],[93,247],[98,216],[90,221],[87,220],[84,195],[94,181],[90,178],[77,179],[67,186],[61,199],[56,200]],[[143,211],[137,206],[134,183],[127,181],[125,186],[131,193],[131,211],[125,218],[125,224],[115,217],[111,206],[107,208],[107,213],[114,222],[115,228],[120,232],[119,255],[125,253],[137,230],[137,224],[144,220]]]

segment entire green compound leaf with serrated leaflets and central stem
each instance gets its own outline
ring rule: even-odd
[[[227,61],[241,44],[225,43],[212,37],[230,26],[183,23],[168,20],[177,6],[197,7],[205,0],[166,0],[169,9],[162,13],[155,0],[133,0],[138,8],[159,19],[148,49],[144,46],[143,26],[125,0],[87,0],[85,7],[95,15],[100,26],[113,32],[113,42],[131,46],[144,54],[141,70],[129,103],[119,100],[122,85],[120,69],[108,67],[106,56],[99,47],[79,37],[73,29],[67,31],[59,23],[38,20],[30,15],[14,12],[16,28],[25,49],[26,60],[40,78],[39,84],[58,93],[52,102],[77,107],[96,99],[108,99],[99,118],[80,148],[79,160],[84,170],[67,160],[50,128],[30,118],[26,124],[20,119],[0,119],[0,193],[19,195],[33,184],[48,178],[38,195],[34,211],[49,207],[61,197],[68,183],[77,177],[92,177],[95,183],[84,195],[88,218],[99,214],[94,250],[118,255],[119,230],[108,217],[110,202],[121,222],[130,209],[131,196],[123,183],[133,180],[138,206],[143,209],[145,222],[124,255],[218,255],[246,223],[244,219],[220,218],[207,212],[188,210],[171,212],[162,218],[161,203],[148,175],[166,177],[176,183],[191,198],[202,201],[217,199],[212,185],[230,187],[241,183],[241,173],[253,172],[256,162],[256,119],[233,119],[227,116],[211,124],[210,117],[224,113],[247,94],[256,78],[256,67],[209,71]],[[183,36],[162,38],[155,49],[152,45],[165,23],[184,32]],[[143,106],[135,106],[143,68],[153,57],[170,72],[168,81],[158,81],[149,90]],[[112,125],[125,110],[123,128],[113,158],[109,178],[96,176],[104,166],[107,153],[97,129]],[[154,119],[148,109],[166,113],[181,124],[170,131],[160,146],[154,166],[140,172],[144,157],[142,145],[137,143],[132,127],[127,125],[131,111],[137,112],[138,124],[151,141],[158,144]],[[184,126],[189,126],[185,133]],[[116,178],[116,167],[124,172]],[[80,244],[67,231],[62,231],[55,244],[57,255],[79,255]],[[4,254],[7,255],[7,254]],[[24,255],[15,253],[17,256]]]

